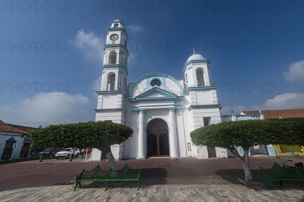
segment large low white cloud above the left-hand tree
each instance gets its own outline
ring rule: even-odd
[[[89,99],[82,94],[70,95],[64,92],[42,92],[25,98],[19,103],[3,106],[1,119],[6,123],[16,125],[29,123],[32,127],[37,122],[46,126],[58,123],[89,121],[86,120],[88,112],[83,109],[87,104],[89,104]],[[28,126],[28,124],[25,126]]]

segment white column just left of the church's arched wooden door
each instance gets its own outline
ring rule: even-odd
[[[144,136],[144,109],[138,110],[138,156],[136,159],[145,159],[145,136]]]

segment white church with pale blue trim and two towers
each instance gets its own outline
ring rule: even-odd
[[[128,83],[128,33],[118,18],[106,30],[101,89],[95,121],[112,121],[133,128],[132,137],[111,146],[117,160],[168,158],[227,158],[226,149],[194,146],[191,131],[221,122],[210,61],[194,54],[180,71],[184,80],[164,73],[143,75]],[[92,160],[101,160],[93,149]]]

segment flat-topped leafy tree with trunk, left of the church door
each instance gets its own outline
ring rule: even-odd
[[[101,150],[109,160],[110,167],[116,169],[111,145],[126,141],[133,130],[123,124],[89,121],[51,125],[30,132],[31,148],[43,147],[94,147]]]

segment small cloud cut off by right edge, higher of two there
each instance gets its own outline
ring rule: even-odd
[[[288,72],[283,72],[288,82],[304,82],[304,60],[289,65]]]

